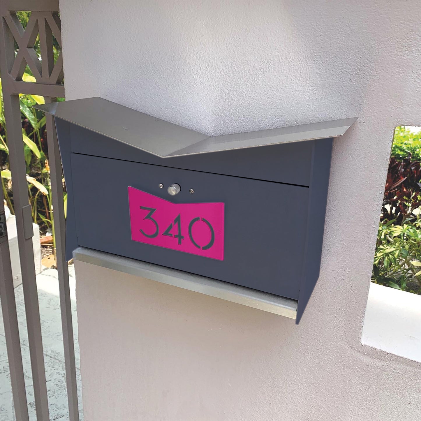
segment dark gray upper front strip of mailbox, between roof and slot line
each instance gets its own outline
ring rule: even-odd
[[[55,120],[64,121],[57,117]],[[288,143],[162,159],[75,124],[65,123],[70,131],[69,142],[70,136],[72,138],[71,149],[75,153],[298,186],[310,185],[312,141],[300,142],[299,148],[296,143]],[[265,165],[256,165],[260,162]]]

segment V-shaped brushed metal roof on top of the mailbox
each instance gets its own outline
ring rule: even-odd
[[[347,118],[209,137],[99,97],[35,108],[161,158],[332,138],[342,136],[357,120]]]

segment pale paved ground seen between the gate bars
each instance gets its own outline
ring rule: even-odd
[[[75,298],[75,269],[69,266],[69,284],[72,298],[73,329],[75,333],[76,376],[80,419],[83,420],[82,396],[80,382],[79,345],[77,342],[77,318]],[[47,380],[48,406],[51,420],[68,420],[66,378],[64,371],[64,352],[61,334],[59,285],[57,271],[45,269],[37,275],[38,301],[43,335],[45,375]],[[22,285],[15,288],[16,309],[21,336],[22,360],[24,362],[25,383],[29,406],[29,419],[35,420],[35,402],[32,389],[31,366],[29,362],[28,334],[25,318],[25,307]],[[0,312],[1,313],[1,312]],[[0,419],[15,420],[10,375],[4,337],[3,320],[0,323]]]

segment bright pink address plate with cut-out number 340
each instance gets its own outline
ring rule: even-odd
[[[171,203],[128,187],[133,241],[224,260],[224,203]]]

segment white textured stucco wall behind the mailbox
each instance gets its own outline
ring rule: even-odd
[[[417,419],[420,366],[362,346],[361,330],[392,133],[420,123],[420,2],[60,9],[67,99],[102,96],[209,134],[359,117],[334,142],[320,279],[300,325],[77,263],[85,419]]]

